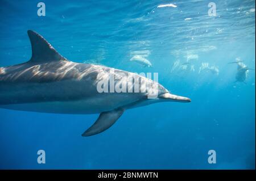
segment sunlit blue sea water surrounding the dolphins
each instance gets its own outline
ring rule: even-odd
[[[0,109],[0,169],[255,169],[255,71],[234,82],[237,65],[228,64],[240,58],[255,68],[254,0],[214,0],[216,16],[208,15],[211,1],[199,0],[43,2],[46,16],[36,1],[0,1],[0,66],[30,59],[34,30],[69,60],[158,73],[192,102],[127,110],[92,137],[81,133],[98,115]],[[169,3],[177,7],[157,7]],[[153,67],[130,62],[134,54]],[[195,71],[171,71],[176,61]],[[199,73],[203,62],[218,75]],[[45,164],[37,162],[40,149]]]

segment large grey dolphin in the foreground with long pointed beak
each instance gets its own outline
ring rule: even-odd
[[[130,108],[158,102],[191,102],[171,94],[159,83],[139,74],[102,65],[80,64],[61,56],[43,36],[28,30],[32,56],[23,64],[0,68],[0,108],[46,113],[100,113],[96,122],[82,136],[92,136],[111,127]],[[101,92],[98,85],[110,82],[130,85],[126,91]],[[135,77],[135,79],[123,79]],[[145,91],[132,92],[143,82],[151,84]],[[123,87],[125,87],[123,86]],[[110,84],[104,89],[110,89]],[[148,95],[157,92],[155,98]]]

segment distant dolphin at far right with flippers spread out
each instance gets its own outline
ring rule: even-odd
[[[248,77],[249,70],[254,70],[248,68],[243,61],[237,58],[236,62],[229,62],[228,64],[237,64],[237,74],[236,74],[236,81],[235,82],[243,82],[246,84],[245,80]]]

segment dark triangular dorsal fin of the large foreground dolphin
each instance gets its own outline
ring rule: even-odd
[[[28,30],[28,37],[30,37],[30,43],[32,48],[32,57],[29,62],[49,62],[67,60],[61,56],[51,44],[38,33]]]

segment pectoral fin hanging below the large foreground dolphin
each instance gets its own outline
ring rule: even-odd
[[[106,129],[110,128],[120,116],[122,116],[124,111],[125,110],[122,108],[119,108],[113,111],[101,112],[92,127],[82,133],[82,136],[92,136],[104,132]]]

